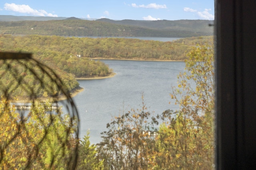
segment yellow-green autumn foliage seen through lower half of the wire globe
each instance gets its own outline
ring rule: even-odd
[[[7,100],[0,104],[0,167],[7,169],[68,168],[76,139],[68,115],[50,114],[50,103],[35,102],[26,115]],[[70,127],[71,125],[71,127]],[[69,132],[67,132],[69,131]]]

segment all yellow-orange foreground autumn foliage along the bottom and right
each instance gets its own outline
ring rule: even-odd
[[[180,106],[154,115],[142,106],[113,117],[102,141],[91,145],[89,132],[74,137],[78,120],[51,102],[34,102],[20,114],[8,101],[0,103],[0,167],[2,169],[169,170],[212,169],[214,163],[213,45],[196,45],[187,54],[171,102]],[[78,147],[78,152],[76,152]]]

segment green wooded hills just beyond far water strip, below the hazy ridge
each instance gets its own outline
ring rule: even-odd
[[[156,21],[157,22],[157,21]],[[159,22],[159,21],[158,21]],[[165,25],[166,20],[162,20]],[[176,21],[178,22],[178,21]],[[49,20],[49,21],[1,21],[0,33],[18,35],[59,36],[112,36],[112,37],[192,37],[212,35],[208,28],[197,20],[188,23],[174,23],[165,29],[143,27],[142,25],[121,25],[105,21]],[[205,21],[204,21],[205,22]],[[198,24],[194,24],[198,23]],[[159,25],[160,23],[158,23]],[[167,24],[167,23],[166,23]],[[154,25],[157,25],[155,23]],[[195,27],[195,25],[200,25]],[[206,22],[204,25],[207,25]],[[188,27],[190,29],[188,29]],[[194,31],[196,30],[196,31]]]

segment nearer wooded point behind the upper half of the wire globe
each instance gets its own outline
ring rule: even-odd
[[[28,67],[31,67],[32,71]],[[63,94],[58,90],[58,86],[53,85],[52,79],[49,77],[54,75],[50,73],[47,76],[40,68],[42,67],[38,66],[36,62],[28,62],[24,59],[1,60],[0,100],[6,97],[6,93],[11,94],[8,98],[23,101],[31,98],[31,96],[34,96],[34,98],[62,96]],[[47,68],[47,70],[52,69]],[[60,77],[70,93],[80,89],[79,83],[72,74],[67,74],[60,68],[55,68],[54,72]],[[33,73],[36,73],[36,75]],[[40,80],[38,80],[39,78]],[[42,82],[47,82],[47,86],[43,85]],[[50,89],[48,85],[51,85]]]

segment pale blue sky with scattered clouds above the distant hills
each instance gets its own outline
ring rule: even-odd
[[[214,20],[214,0],[1,0],[0,15]]]

